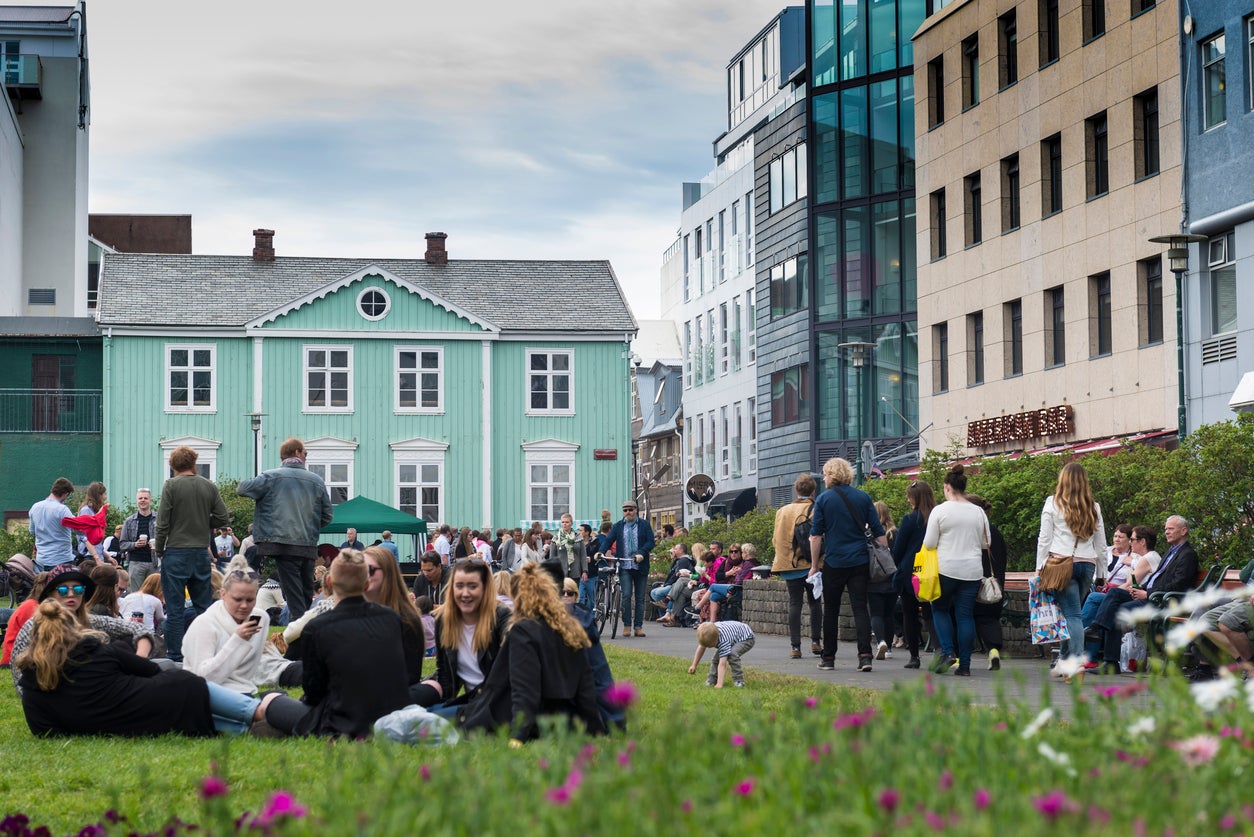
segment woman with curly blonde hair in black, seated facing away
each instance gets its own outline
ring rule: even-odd
[[[514,619],[500,659],[473,703],[461,713],[466,729],[509,725],[510,738],[540,734],[539,718],[566,718],[589,733],[604,733],[583,626],[562,604],[558,586],[540,566],[514,573]]]

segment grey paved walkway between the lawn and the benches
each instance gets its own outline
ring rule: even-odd
[[[685,627],[662,627],[656,622],[645,626],[647,636],[623,637],[622,631],[617,639],[602,637],[602,641],[616,648],[630,648],[640,651],[651,651],[663,656],[685,660],[683,668],[692,660],[696,650],[696,631]],[[894,649],[893,658],[875,660],[872,671],[858,670],[858,653],[853,642],[841,642],[836,651],[836,668],[834,671],[820,671],[819,658],[809,651],[810,642],[803,645],[804,656],[800,660],[789,659],[791,646],[788,637],[759,634],[754,644],[754,650],[745,655],[745,668],[750,669],[746,680],[752,686],[752,669],[774,671],[777,674],[791,674],[800,678],[809,678],[823,683],[835,683],[844,686],[858,686],[861,689],[875,689],[888,691],[898,683],[918,681],[927,671],[930,654],[923,655],[924,668],[920,670],[905,669],[909,653],[904,649]],[[705,666],[710,659],[710,653],[702,660]],[[676,664],[678,668],[678,663]],[[698,673],[700,674],[700,673]],[[1050,700],[1060,715],[1070,715],[1075,694],[1093,694],[1095,686],[1119,685],[1132,683],[1132,675],[1119,676],[1093,676],[1088,675],[1078,690],[1062,683],[1060,678],[1050,676],[1050,668],[1042,658],[1013,658],[1002,659],[1001,671],[988,670],[988,658],[974,655],[971,659],[971,676],[956,678],[947,675],[937,678],[943,680],[951,689],[961,689],[971,695],[971,703],[981,705],[999,705],[1002,701],[1025,700],[1027,705],[1036,709],[1041,704],[1042,683],[1050,689]],[[998,695],[1001,690],[1001,696]],[[1147,705],[1152,700],[1149,691],[1142,691],[1132,696],[1124,705],[1131,708]]]

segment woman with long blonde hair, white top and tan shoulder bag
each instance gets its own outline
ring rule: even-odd
[[[1101,506],[1088,487],[1088,472],[1078,462],[1068,462],[1058,472],[1053,494],[1041,508],[1041,533],[1036,538],[1036,571],[1050,556],[1071,557],[1071,578],[1055,596],[1067,620],[1071,639],[1063,640],[1063,656],[1078,656],[1085,648],[1085,626],[1080,607],[1088,596],[1097,562],[1106,555],[1106,531]]]

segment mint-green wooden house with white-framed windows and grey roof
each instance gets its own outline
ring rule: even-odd
[[[104,478],[213,479],[300,437],[334,502],[429,522],[597,518],[630,492],[636,321],[604,261],[109,253],[100,279]]]

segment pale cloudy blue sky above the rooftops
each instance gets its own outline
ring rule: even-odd
[[[90,211],[191,213],[197,253],[608,259],[657,317],[726,65],[784,5],[89,0]]]

